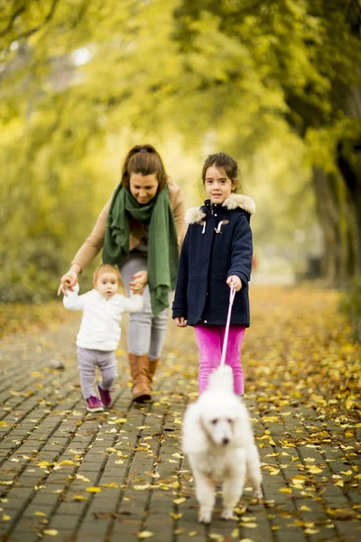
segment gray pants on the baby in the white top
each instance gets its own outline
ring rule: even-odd
[[[80,386],[85,399],[88,399],[90,396],[97,397],[97,393],[94,390],[94,377],[97,367],[100,369],[102,376],[100,388],[112,388],[118,376],[116,373],[116,352],[78,347],[78,361]]]

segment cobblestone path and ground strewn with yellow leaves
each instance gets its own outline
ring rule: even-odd
[[[246,488],[226,522],[219,519],[218,495],[211,525],[197,521],[180,449],[183,412],[198,389],[192,329],[170,323],[153,402],[145,406],[130,401],[123,343],[114,404],[89,414],[79,388],[75,315],[39,336],[0,342],[0,539],[361,540],[361,424],[348,389],[356,376],[347,380],[344,365],[332,364],[341,397],[325,376],[328,356],[357,366],[360,354],[347,341],[339,345],[325,324],[336,294],[259,287],[252,298],[245,403],[260,446],[264,500],[253,500]],[[64,369],[52,369],[51,360],[63,361]]]

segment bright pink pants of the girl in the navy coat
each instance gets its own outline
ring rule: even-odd
[[[225,337],[225,325],[194,326],[199,348],[199,394],[208,386],[208,377],[218,368],[222,356],[222,346]],[[241,365],[241,346],[245,336],[245,326],[229,326],[226,363],[233,370],[234,390],[237,395],[245,391],[245,382]]]

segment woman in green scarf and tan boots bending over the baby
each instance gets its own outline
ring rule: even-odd
[[[132,398],[138,403],[151,398],[184,233],[180,188],[167,178],[152,145],[135,145],[125,156],[122,180],[112,199],[61,277],[58,295],[78,282],[103,248],[103,263],[119,266],[128,295],[130,289],[143,292],[143,313],[131,314],[128,326]]]

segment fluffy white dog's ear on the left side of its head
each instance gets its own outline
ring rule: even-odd
[[[183,419],[183,452],[204,453],[208,450],[208,440],[201,423],[201,412],[197,403],[188,406]]]

